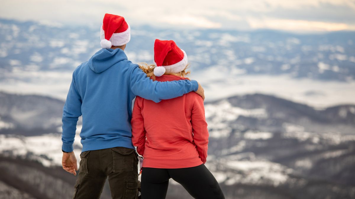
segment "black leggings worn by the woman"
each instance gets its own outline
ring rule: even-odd
[[[164,199],[170,178],[180,183],[193,198],[224,199],[217,180],[203,164],[182,169],[144,167],[141,179],[142,199]]]

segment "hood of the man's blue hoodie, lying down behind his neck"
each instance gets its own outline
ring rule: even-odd
[[[89,59],[89,67],[95,73],[102,73],[116,63],[127,59],[121,49],[101,49]]]

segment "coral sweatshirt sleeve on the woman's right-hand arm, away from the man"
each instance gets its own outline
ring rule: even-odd
[[[192,106],[191,125],[193,132],[193,141],[196,144],[198,155],[201,161],[206,163],[208,149],[208,130],[206,118],[204,115],[203,99],[195,95]]]

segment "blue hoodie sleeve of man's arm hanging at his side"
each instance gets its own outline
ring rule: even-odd
[[[73,151],[73,143],[75,138],[76,123],[81,116],[81,97],[73,78],[70,84],[70,89],[63,107],[62,116],[62,150],[65,152]]]

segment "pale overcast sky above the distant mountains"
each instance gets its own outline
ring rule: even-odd
[[[355,30],[355,0],[7,0],[0,7],[1,18],[53,25],[97,26],[105,13],[131,26]]]

